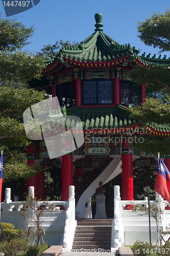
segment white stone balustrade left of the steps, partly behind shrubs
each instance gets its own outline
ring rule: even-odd
[[[29,196],[34,197],[34,187],[29,187]],[[1,203],[1,221],[17,225],[23,224],[23,219],[18,215],[18,211],[22,208],[24,202],[18,202],[18,197],[15,197],[14,202],[11,200],[11,189],[6,188],[5,200]],[[55,204],[53,212],[46,211],[43,215],[42,228],[45,231],[43,235],[44,241],[47,241],[48,246],[63,245],[63,248],[70,250],[74,240],[77,221],[75,220],[75,187],[69,186],[68,201],[48,201],[48,204]],[[46,205],[46,202],[38,201],[35,207]],[[65,210],[60,210],[59,206],[64,206]],[[32,210],[30,209],[30,218],[33,218]],[[34,221],[34,218],[32,219]]]

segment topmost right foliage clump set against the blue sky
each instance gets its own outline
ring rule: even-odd
[[[161,52],[170,50],[170,9],[165,13],[153,12],[144,22],[138,22],[138,37],[145,45],[158,47]]]

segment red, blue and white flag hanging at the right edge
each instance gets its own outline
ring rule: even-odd
[[[170,203],[170,173],[161,159],[158,163],[155,191]]]

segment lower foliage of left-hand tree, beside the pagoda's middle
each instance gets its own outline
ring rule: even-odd
[[[25,146],[29,144],[22,113],[45,98],[45,92],[30,89],[0,87],[0,148],[4,151],[4,181],[31,178],[40,165],[29,167]],[[7,86],[7,84],[6,84]],[[16,84],[15,84],[16,86]]]

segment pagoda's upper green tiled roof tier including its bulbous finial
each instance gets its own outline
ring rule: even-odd
[[[95,32],[87,37],[84,41],[76,46],[63,46],[56,58],[46,60],[46,68],[43,69],[43,75],[54,74],[59,70],[71,66],[79,67],[115,67],[116,65],[125,65],[129,69],[136,65],[152,66],[169,65],[170,59],[166,59],[164,55],[161,59],[155,58],[156,54],[150,57],[151,54],[145,57],[145,53],[139,56],[139,50],[131,47],[130,44],[120,45],[111,37],[103,33],[103,24],[101,13],[96,13],[95,17]]]

